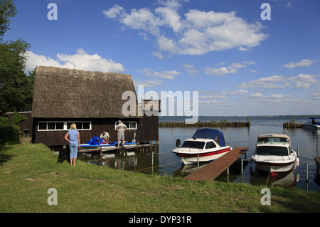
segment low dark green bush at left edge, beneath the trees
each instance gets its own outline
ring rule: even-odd
[[[0,125],[0,144],[18,144],[20,128],[15,125]]]

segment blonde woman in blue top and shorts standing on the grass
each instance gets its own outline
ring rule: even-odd
[[[70,147],[70,166],[75,166],[75,159],[77,159],[78,148],[80,148],[80,134],[75,123],[71,124],[70,130],[67,132],[67,134],[65,134],[65,140],[69,142]]]

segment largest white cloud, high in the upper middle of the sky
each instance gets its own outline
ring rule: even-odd
[[[259,46],[267,38],[261,33],[260,23],[248,23],[236,16],[235,11],[215,12],[191,9],[178,14],[181,1],[159,1],[162,6],[149,9],[132,9],[127,13],[121,6],[114,5],[102,13],[118,20],[127,28],[143,30],[145,36],[156,41],[159,51],[171,54],[201,55],[210,51],[238,48],[241,51]],[[169,28],[169,30],[168,30]],[[170,37],[170,38],[169,38]]]

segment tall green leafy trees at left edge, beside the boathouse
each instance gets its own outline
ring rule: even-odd
[[[36,72],[26,72],[30,44],[22,38],[4,41],[16,14],[12,0],[0,0],[0,117],[6,117],[6,112],[30,111],[32,107]]]

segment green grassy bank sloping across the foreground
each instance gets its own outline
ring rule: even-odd
[[[0,212],[319,212],[320,194],[263,186],[188,181],[78,162],[56,164],[43,144],[0,147]],[[58,205],[47,203],[48,189]]]

